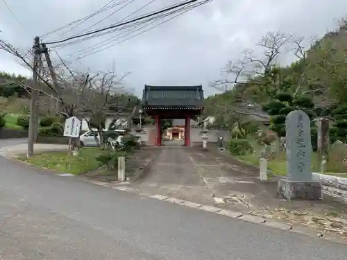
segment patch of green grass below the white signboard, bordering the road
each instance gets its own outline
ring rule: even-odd
[[[79,155],[69,155],[69,157],[66,152],[59,152],[34,155],[30,159],[19,157],[19,159],[54,171],[79,174],[99,168],[101,163],[96,160],[96,157],[101,153],[105,151],[99,148],[83,148]]]

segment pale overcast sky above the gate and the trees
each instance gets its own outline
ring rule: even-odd
[[[0,39],[25,51],[31,48],[33,37],[36,35],[44,35],[71,21],[90,15],[109,1],[6,0],[15,14],[14,16],[3,0],[0,0]],[[133,17],[182,1],[153,0],[149,6],[137,12]],[[49,42],[55,38],[63,39],[80,33],[83,29],[92,26],[127,4],[122,10],[115,12],[114,15],[88,30],[107,26],[130,15],[131,12],[138,10],[151,0],[115,0],[110,5],[115,5],[117,2],[124,3],[88,19],[65,35],[62,33],[71,26],[52,35],[44,36],[42,40]],[[211,3],[206,3],[151,31],[77,61],[76,58],[81,57],[82,54],[99,51],[103,46],[97,46],[97,49],[89,52],[79,53],[80,55],[76,53],[77,51],[110,37],[116,39],[115,42],[117,42],[119,32],[56,51],[62,58],[72,62],[72,66],[76,69],[88,68],[91,71],[100,71],[115,67],[119,76],[130,72],[126,83],[130,88],[135,89],[137,95],[142,94],[145,84],[202,84],[205,93],[212,94],[215,90],[209,88],[208,83],[211,80],[219,79],[220,71],[226,62],[239,57],[242,50],[253,48],[266,31],[293,33],[306,38],[321,37],[327,31],[335,29],[337,20],[346,15],[346,0],[213,0]],[[120,40],[125,40],[126,37]],[[73,53],[76,54],[73,55]],[[0,51],[0,71],[30,75],[30,71],[26,71],[17,62],[18,60],[14,57]]]

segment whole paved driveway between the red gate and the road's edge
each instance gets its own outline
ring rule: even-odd
[[[222,157],[197,148],[161,149],[146,170],[144,180],[132,185],[139,193],[163,194],[207,205],[223,202],[223,207],[237,211],[249,211],[259,202],[260,194],[268,195],[269,183],[264,187],[254,168],[225,162]],[[275,191],[276,181],[266,200],[274,197]]]

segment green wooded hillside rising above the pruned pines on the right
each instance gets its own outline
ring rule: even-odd
[[[296,47],[298,60],[287,67],[278,67],[276,57],[269,60],[269,46],[264,51],[264,59],[268,59],[268,67],[256,67],[256,73],[250,74],[250,69],[245,72],[239,69],[239,64],[246,64],[244,60],[238,60],[235,64],[229,64],[231,76],[244,76],[246,80],[230,80],[229,84],[234,85],[231,90],[222,94],[216,94],[206,98],[206,114],[218,114],[223,106],[230,107],[230,110],[242,109],[242,106],[253,103],[254,107],[261,107],[262,104],[271,101],[279,92],[289,92],[293,96],[305,94],[310,96],[316,106],[327,106],[335,103],[347,101],[347,32],[346,23],[340,26],[337,31],[327,33],[320,40],[316,40],[310,48],[304,49],[300,40],[291,40],[291,46]],[[270,34],[269,38],[275,42],[278,35]],[[263,39],[264,41],[264,39]],[[290,40],[288,40],[289,42]],[[278,44],[279,46],[280,44]],[[262,46],[262,45],[261,45]],[[272,51],[278,52],[284,49],[276,49],[276,45],[271,45]],[[268,51],[268,53],[266,53]],[[249,61],[251,58],[248,58]],[[251,62],[248,62],[248,64]],[[245,67],[245,66],[244,66]],[[236,78],[237,78],[236,77]],[[241,78],[241,77],[240,77]]]

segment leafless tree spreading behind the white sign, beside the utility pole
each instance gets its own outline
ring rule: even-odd
[[[26,68],[33,70],[30,54],[23,55],[14,46],[3,41],[0,41],[0,49],[15,55]],[[26,88],[28,92],[40,91],[44,96],[56,101],[59,104],[58,109],[56,105],[40,98],[41,104],[52,107],[56,113],[65,118],[77,116],[79,119],[85,119],[90,129],[92,125],[95,125],[102,142],[103,124],[106,116],[112,115],[111,125],[115,125],[119,121],[119,113],[128,105],[127,101],[123,103],[119,101],[119,96],[130,94],[122,83],[128,74],[117,78],[114,71],[98,73],[74,71],[60,57],[59,60],[59,62],[53,60],[53,65],[50,58],[49,60],[42,59],[39,73],[42,82],[40,89],[35,89],[30,84],[30,80],[23,82],[22,87]],[[45,62],[52,64],[44,67]],[[112,110],[112,107],[117,107],[117,109]],[[100,144],[98,139],[96,141]]]

